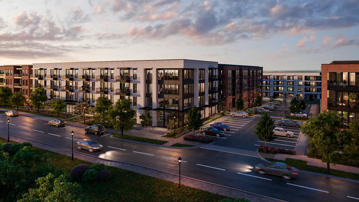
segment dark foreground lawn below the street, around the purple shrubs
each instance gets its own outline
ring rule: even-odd
[[[0,142],[6,142],[0,138]],[[13,141],[11,141],[14,143]],[[37,153],[50,153],[52,164],[57,169],[63,169],[70,173],[71,169],[78,164],[92,163],[74,159],[59,153],[46,151],[33,147]],[[76,157],[76,153],[75,153]],[[219,201],[228,198],[218,194],[206,192],[200,189],[181,185],[178,189],[177,183],[167,180],[142,175],[129,170],[108,166],[112,179],[108,182],[85,183],[79,182],[84,194],[87,194],[89,201]]]

